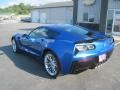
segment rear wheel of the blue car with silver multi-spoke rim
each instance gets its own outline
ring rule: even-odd
[[[55,54],[50,51],[44,55],[44,67],[50,77],[56,78],[59,75],[60,64]]]

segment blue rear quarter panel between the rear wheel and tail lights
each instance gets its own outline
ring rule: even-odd
[[[74,44],[62,40],[55,40],[53,43],[48,44],[48,48],[54,51],[60,61],[61,72],[67,74],[73,59]]]

